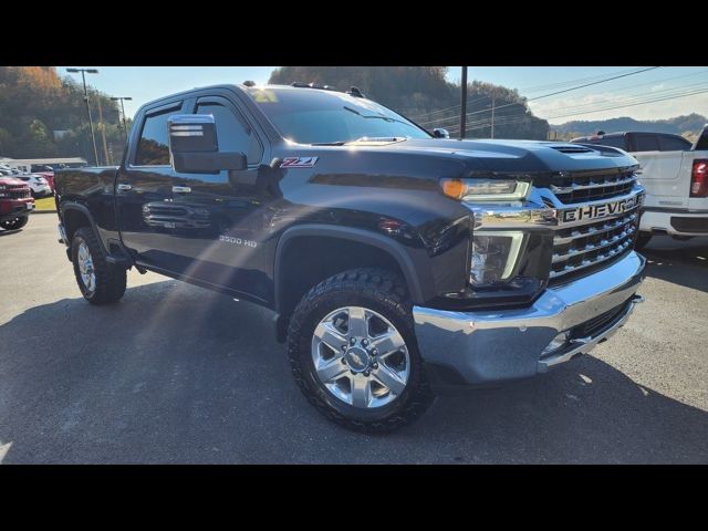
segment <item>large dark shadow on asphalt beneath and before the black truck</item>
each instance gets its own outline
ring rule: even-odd
[[[592,356],[350,433],[300,394],[270,320],[175,281],[27,310],[0,326],[0,461],[708,461],[706,412]]]

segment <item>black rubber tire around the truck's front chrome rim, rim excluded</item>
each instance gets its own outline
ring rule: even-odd
[[[384,406],[354,407],[330,393],[316,375],[311,351],[314,330],[323,317],[343,306],[363,306],[385,316],[406,343],[408,382],[403,393]],[[406,284],[386,270],[354,269],[312,288],[290,320],[288,356],[295,382],[308,400],[326,418],[348,429],[375,433],[399,428],[418,418],[434,400],[416,343]]]

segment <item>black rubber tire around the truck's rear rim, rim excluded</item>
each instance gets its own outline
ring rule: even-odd
[[[86,243],[88,252],[91,253],[93,271],[96,279],[94,290],[88,290],[81,277],[77,253],[82,242]],[[74,233],[71,241],[71,258],[74,264],[76,283],[84,299],[91,304],[111,304],[121,300],[125,293],[127,272],[124,268],[113,266],[106,261],[103,246],[91,227],[82,227]]]

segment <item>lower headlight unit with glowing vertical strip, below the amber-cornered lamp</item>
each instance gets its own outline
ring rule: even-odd
[[[524,233],[475,231],[469,280],[476,288],[510,280],[517,268]]]

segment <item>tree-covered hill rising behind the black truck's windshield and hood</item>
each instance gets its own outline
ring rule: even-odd
[[[446,66],[282,66],[270,83],[321,83],[346,91],[357,86],[367,97],[433,129],[459,133],[460,85],[445,79]],[[516,90],[473,81],[469,83],[467,136],[489,138],[491,106],[497,138],[548,138],[549,124],[527,108]]]

